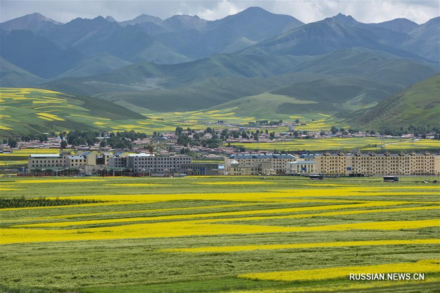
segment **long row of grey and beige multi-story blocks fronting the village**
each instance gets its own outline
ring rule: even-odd
[[[224,164],[192,162],[187,155],[155,155],[126,152],[79,152],[71,155],[31,154],[28,169],[81,168],[86,174],[97,169],[128,169],[134,174],[186,175],[259,175],[312,174],[339,176],[363,175],[437,175],[440,155],[408,154],[345,154],[323,153],[293,156],[290,154],[232,154]]]

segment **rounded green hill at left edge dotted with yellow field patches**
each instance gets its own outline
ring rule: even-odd
[[[0,88],[0,132],[97,130],[145,117],[111,102],[37,88]]]

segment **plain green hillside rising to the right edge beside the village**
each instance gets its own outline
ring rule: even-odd
[[[363,112],[350,123],[379,129],[382,122],[387,128],[440,126],[440,75],[425,79],[382,101]]]

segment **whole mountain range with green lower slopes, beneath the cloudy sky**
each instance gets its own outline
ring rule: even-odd
[[[34,13],[0,24],[0,85],[135,111],[239,105],[252,116],[258,103],[270,116],[357,111],[439,73],[439,24],[343,14],[303,23],[259,7],[216,21],[142,14],[60,23]]]

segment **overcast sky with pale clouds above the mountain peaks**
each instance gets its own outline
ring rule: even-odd
[[[33,12],[39,12],[60,22],[68,22],[77,17],[95,18],[98,15],[110,15],[117,21],[125,21],[143,13],[162,19],[176,14],[189,14],[198,15],[206,20],[216,20],[250,6],[259,6],[272,13],[288,14],[306,23],[319,21],[339,12],[351,15],[361,22],[407,18],[423,23],[440,14],[439,0],[0,0],[0,21],[8,21]]]

